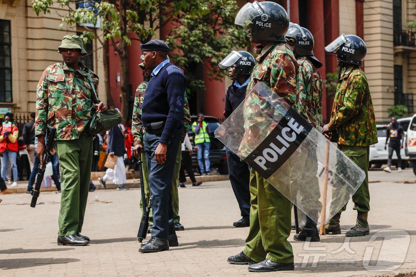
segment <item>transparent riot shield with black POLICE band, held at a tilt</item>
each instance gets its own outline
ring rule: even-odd
[[[341,210],[365,178],[336,144],[263,82],[215,136],[317,224]]]

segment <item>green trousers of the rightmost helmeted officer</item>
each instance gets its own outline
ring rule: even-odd
[[[369,146],[348,146],[338,144],[339,150],[342,151],[348,158],[350,158],[359,168],[365,172],[365,179],[360,185],[358,190],[352,195],[352,201],[354,202],[353,210],[366,213],[370,210],[370,191],[368,188],[368,166],[370,158]],[[347,204],[337,213],[341,213],[347,209]]]

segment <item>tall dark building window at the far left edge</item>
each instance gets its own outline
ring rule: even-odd
[[[12,102],[10,21],[0,20],[0,102]]]

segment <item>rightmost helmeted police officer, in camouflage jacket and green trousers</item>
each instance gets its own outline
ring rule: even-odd
[[[340,35],[325,51],[337,54],[340,77],[334,97],[331,118],[322,130],[331,134],[338,148],[357,164],[366,178],[352,196],[354,210],[357,210],[357,224],[347,231],[347,237],[368,235],[367,222],[370,210],[368,189],[369,146],[377,143],[376,121],[370,90],[364,72],[359,68],[367,53],[364,41],[355,35]],[[339,218],[347,204],[329,221],[327,233],[340,234]]]

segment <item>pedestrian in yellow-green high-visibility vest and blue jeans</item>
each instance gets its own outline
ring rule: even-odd
[[[192,131],[195,133],[193,142],[196,146],[198,146],[198,164],[201,170],[201,175],[210,175],[211,167],[209,160],[209,148],[211,141],[209,135],[211,134],[211,131],[208,123],[204,121],[204,115],[202,113],[198,114],[198,120],[192,124]]]

